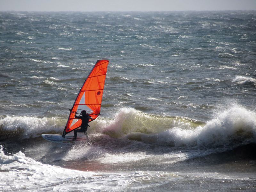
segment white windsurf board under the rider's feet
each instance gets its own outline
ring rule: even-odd
[[[65,136],[62,137],[62,135],[58,134],[42,134],[41,135],[45,140],[51,141],[54,143],[73,143],[73,142],[79,142],[86,140],[86,137],[77,137],[75,141],[73,141],[73,136]]]

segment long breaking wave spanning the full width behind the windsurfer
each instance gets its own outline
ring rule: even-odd
[[[62,133],[65,118],[6,116],[0,119],[2,137],[21,139],[42,133]],[[90,123],[88,134],[175,147],[217,147],[256,142],[256,113],[242,106],[218,112],[208,122],[186,117],[156,116],[122,108],[113,119],[100,117]],[[2,138],[3,139],[3,138]]]

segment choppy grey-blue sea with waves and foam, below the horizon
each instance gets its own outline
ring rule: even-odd
[[[44,140],[100,59],[89,139]],[[255,11],[0,12],[0,191],[255,191],[255,60]]]

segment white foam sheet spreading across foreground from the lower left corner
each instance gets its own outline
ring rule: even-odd
[[[97,168],[96,168],[97,169]],[[42,164],[22,152],[5,155],[0,147],[0,191],[124,191],[128,187],[161,186],[166,181],[182,179],[170,172],[82,172]],[[150,183],[145,182],[147,178]],[[99,182],[100,180],[100,182]],[[15,182],[13,182],[15,181]],[[38,191],[38,190],[37,190]]]

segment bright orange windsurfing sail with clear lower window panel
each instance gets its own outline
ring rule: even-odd
[[[86,112],[92,117],[89,122],[100,115],[108,62],[108,60],[98,60],[92,68],[91,73],[84,81],[84,84],[76,97],[75,103],[70,110],[62,137],[80,127],[82,121],[81,119],[75,118],[75,113],[80,114],[82,110],[86,110]]]

